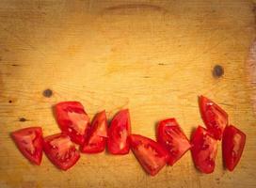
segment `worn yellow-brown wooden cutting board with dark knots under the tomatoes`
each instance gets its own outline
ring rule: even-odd
[[[0,2],[0,187],[256,187],[256,118],[246,62],[255,37],[255,4],[238,0]],[[224,74],[213,76],[216,65]],[[53,95],[43,95],[45,89]],[[49,94],[49,92],[46,94]],[[198,95],[219,103],[247,133],[240,164],[196,170],[190,152],[156,177],[130,153],[83,154],[67,172],[43,156],[29,164],[9,133],[41,126],[58,133],[52,106],[83,102],[90,116],[131,112],[132,131],[155,137],[163,118],[187,136],[202,125]]]

